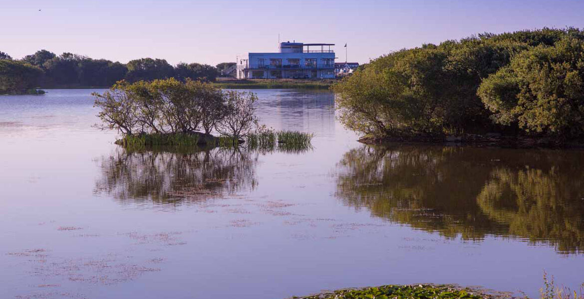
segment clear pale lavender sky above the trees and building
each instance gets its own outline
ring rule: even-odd
[[[40,9],[40,11],[39,11]],[[235,61],[281,40],[334,43],[338,61],[475,33],[584,27],[584,1],[0,0],[0,51],[37,50],[127,62]]]

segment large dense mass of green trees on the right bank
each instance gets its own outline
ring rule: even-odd
[[[584,32],[479,34],[374,59],[333,86],[374,140],[484,134],[582,138]]]

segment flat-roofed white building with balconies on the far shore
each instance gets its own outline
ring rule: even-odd
[[[280,43],[276,53],[238,57],[238,79],[335,78],[335,44]]]

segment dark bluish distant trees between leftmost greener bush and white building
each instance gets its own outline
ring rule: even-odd
[[[0,52],[0,59],[11,60],[8,54]],[[218,75],[217,68],[206,64],[179,63],[170,65],[165,59],[141,58],[127,64],[112,62],[107,59],[93,59],[82,55],[65,52],[55,55],[47,50],[39,50],[21,59],[29,65],[41,69],[42,76],[38,87],[77,87],[77,86],[112,86],[119,80],[138,82],[176,78],[182,82],[187,79],[214,81]],[[6,70],[5,70],[6,71]]]

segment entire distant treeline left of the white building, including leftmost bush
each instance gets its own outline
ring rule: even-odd
[[[183,82],[186,79],[211,82],[231,64],[224,62],[211,66],[181,62],[173,66],[165,59],[152,58],[122,64],[68,52],[55,55],[47,50],[14,60],[0,52],[0,93],[22,92],[34,87],[110,87],[119,80],[138,82],[175,78]]]

